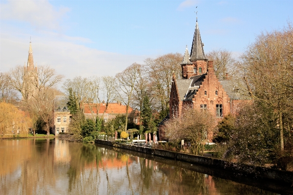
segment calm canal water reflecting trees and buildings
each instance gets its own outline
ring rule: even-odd
[[[104,145],[0,140],[0,195],[290,194],[290,188],[282,190],[273,183]]]

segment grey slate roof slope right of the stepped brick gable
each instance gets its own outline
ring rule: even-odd
[[[244,87],[243,81],[235,82],[232,80],[220,80],[221,85],[231,99],[251,99]]]

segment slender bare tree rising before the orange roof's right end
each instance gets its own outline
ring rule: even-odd
[[[137,82],[140,66],[140,64],[133,63],[128,66],[124,71],[116,75],[119,86],[119,88],[117,88],[117,96],[118,99],[124,102],[126,105],[125,131],[127,130],[128,111],[130,103],[132,101],[134,86],[135,82]]]

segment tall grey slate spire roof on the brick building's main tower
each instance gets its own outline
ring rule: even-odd
[[[194,31],[193,41],[192,41],[191,52],[190,52],[190,60],[196,60],[196,59],[207,60],[205,56],[205,52],[204,52],[204,44],[202,43],[200,38],[197,19],[196,19],[196,26],[195,26],[195,31]]]

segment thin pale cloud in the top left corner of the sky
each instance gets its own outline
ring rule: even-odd
[[[8,0],[1,3],[1,20],[27,21],[37,29],[59,30],[60,21],[69,11],[67,7],[58,10],[47,0]]]

